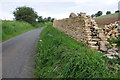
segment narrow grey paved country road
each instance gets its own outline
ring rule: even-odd
[[[36,43],[42,28],[2,43],[2,77],[32,78]]]

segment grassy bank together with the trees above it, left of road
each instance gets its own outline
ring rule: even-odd
[[[33,30],[44,26],[47,22],[53,22],[54,18],[47,17],[43,18],[38,16],[37,12],[33,8],[22,6],[17,7],[13,15],[15,20],[8,21],[2,20],[2,32],[0,37],[0,42],[17,36],[21,33]],[[2,38],[2,39],[1,39]]]

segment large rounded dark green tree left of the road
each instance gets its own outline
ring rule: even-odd
[[[15,16],[15,20],[26,21],[30,24],[34,24],[38,18],[38,15],[33,8],[26,6],[16,8],[13,14]]]

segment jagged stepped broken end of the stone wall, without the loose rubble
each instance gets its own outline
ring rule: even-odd
[[[98,50],[98,42],[100,41],[98,37],[98,31],[100,28],[97,27],[96,22],[88,15],[81,14],[79,16],[84,17],[85,21],[85,33],[86,33],[86,41],[88,43],[88,46],[91,49]]]

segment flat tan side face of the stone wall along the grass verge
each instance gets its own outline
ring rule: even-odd
[[[75,24],[74,24],[75,23]],[[53,26],[68,34],[77,41],[85,41],[84,19],[81,17],[66,18],[54,21]]]

